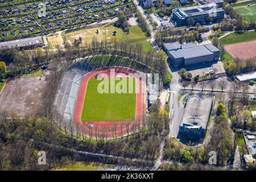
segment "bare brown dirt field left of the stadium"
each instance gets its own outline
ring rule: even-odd
[[[9,80],[0,95],[0,110],[16,111],[20,117],[34,114],[42,100],[45,77],[19,77]]]

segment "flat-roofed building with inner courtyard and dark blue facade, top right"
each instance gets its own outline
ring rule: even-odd
[[[177,26],[187,25],[187,19],[193,18],[195,23],[206,22],[209,16],[213,21],[224,18],[225,10],[218,8],[216,3],[210,3],[208,5],[184,7],[181,9],[172,10],[172,15]]]

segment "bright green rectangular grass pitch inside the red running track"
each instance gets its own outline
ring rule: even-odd
[[[98,85],[101,82],[103,83],[103,80],[97,80],[96,78],[89,80],[81,121],[127,121],[135,118],[135,78],[122,78],[120,81],[115,80],[115,78],[105,79],[105,84],[109,84],[106,92],[109,93],[98,92]],[[110,82],[115,82],[115,84],[110,84]],[[129,82],[133,84],[133,88],[129,88]],[[114,88],[111,85],[121,89],[125,89],[125,86],[127,86],[127,90],[128,88],[133,89],[133,93],[110,93],[110,87]],[[102,88],[102,85],[99,88]]]

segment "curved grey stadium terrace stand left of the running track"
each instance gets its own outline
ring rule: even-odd
[[[63,115],[65,119],[72,118],[80,81],[88,72],[92,71],[92,69],[92,66],[87,61],[82,60],[69,66],[64,73],[55,105],[57,111]]]

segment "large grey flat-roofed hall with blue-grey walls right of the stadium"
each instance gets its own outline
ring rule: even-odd
[[[163,49],[175,67],[218,61],[220,57],[220,50],[213,44],[197,46],[194,43],[174,42],[163,44]]]

